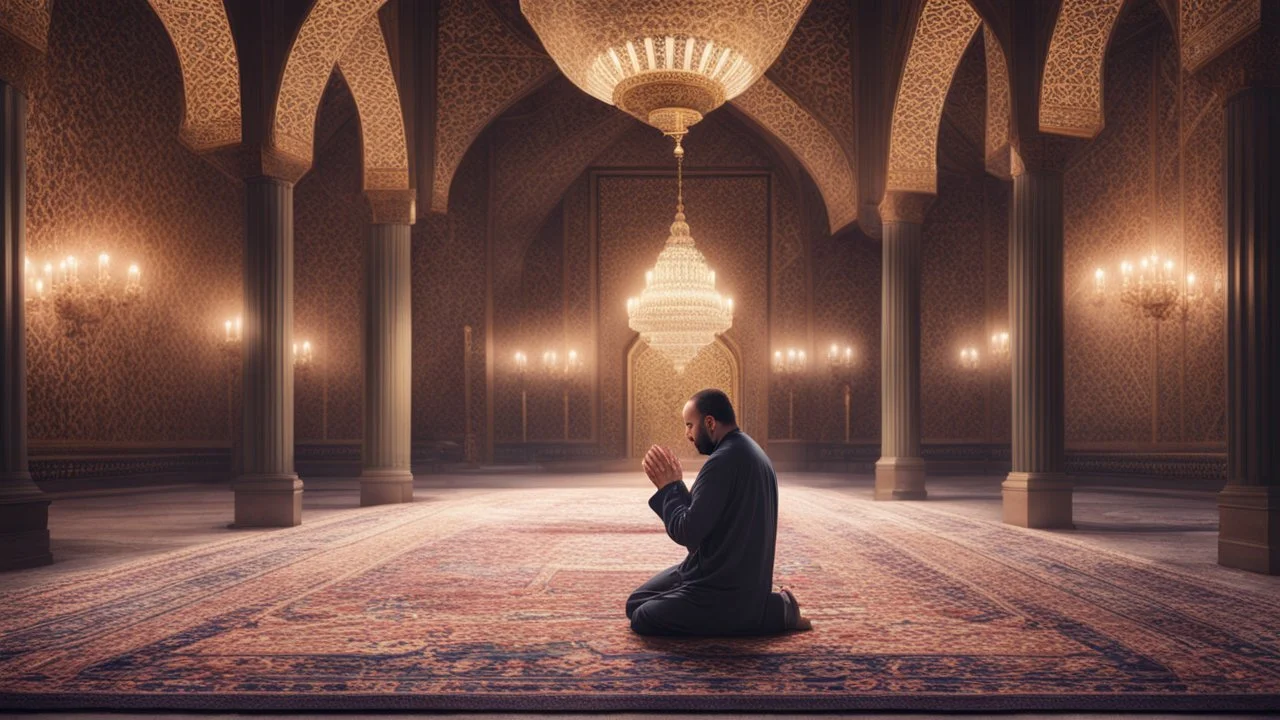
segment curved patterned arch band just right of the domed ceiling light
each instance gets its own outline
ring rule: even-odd
[[[756,81],[732,104],[800,160],[818,186],[832,233],[858,219],[858,181],[845,150],[827,126],[768,77]]]

